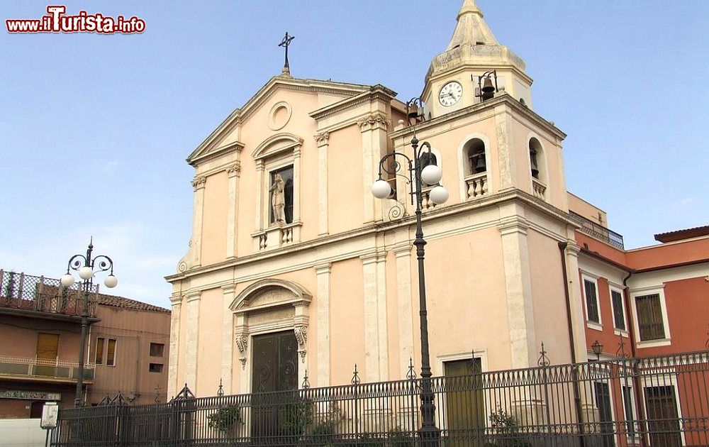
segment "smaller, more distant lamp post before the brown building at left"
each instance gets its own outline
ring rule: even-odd
[[[113,288],[118,285],[118,279],[113,276],[113,261],[108,256],[99,255],[91,258],[91,253],[94,250],[94,238],[89,242],[89,248],[86,250],[86,255],[73,255],[67,263],[67,273],[62,276],[62,286],[72,287],[74,285],[74,276],[69,273],[69,270],[79,272],[79,277],[83,280],[81,290],[84,293],[84,305],[82,307],[82,343],[79,345],[79,374],[77,377],[77,397],[74,399],[74,406],[82,406],[82,387],[84,385],[84,353],[86,349],[86,329],[89,327],[89,294],[94,286],[94,275],[97,272],[108,272],[104,280],[104,285],[108,288]]]

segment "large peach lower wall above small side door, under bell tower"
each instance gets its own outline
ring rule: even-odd
[[[445,238],[434,236],[428,241],[426,250],[434,373],[442,374],[445,358],[469,354],[473,349],[486,353],[489,368],[509,368],[508,307],[499,230],[484,228]],[[412,260],[415,269],[415,257]],[[413,270],[412,277],[414,284],[418,284],[416,270]],[[418,289],[412,299],[418,316]],[[418,345],[418,318],[414,326],[415,344]],[[416,355],[420,355],[418,347]]]

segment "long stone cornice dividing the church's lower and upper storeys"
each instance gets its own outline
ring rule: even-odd
[[[578,223],[576,223],[569,216],[568,213],[556,208],[555,206],[547,204],[546,202],[542,202],[541,200],[533,197],[531,194],[527,194],[526,192],[523,192],[520,189],[508,189],[506,192],[491,194],[490,196],[484,197],[483,199],[437,207],[430,211],[426,211],[425,214],[423,214],[422,219],[424,222],[437,219],[448,219],[454,214],[464,214],[474,211],[476,209],[486,208],[490,206],[500,206],[501,204],[505,204],[506,202],[518,202],[527,206],[533,206],[534,209],[542,212],[542,214],[545,214],[545,216],[549,218],[555,219],[557,221],[562,221],[567,225],[574,226],[574,228],[578,226]],[[266,252],[253,253],[251,255],[242,256],[240,258],[225,260],[221,263],[195,267],[194,269],[187,270],[186,272],[166,276],[165,280],[167,280],[168,282],[175,282],[179,280],[184,280],[186,278],[222,270],[226,267],[238,267],[240,265],[245,265],[254,262],[268,262],[272,258],[277,258],[279,256],[291,255],[293,253],[300,253],[306,250],[315,250],[325,245],[341,243],[342,241],[347,241],[348,239],[372,237],[384,231],[393,231],[398,228],[406,228],[409,226],[413,226],[415,225],[415,223],[416,218],[414,215],[405,216],[401,219],[397,219],[396,221],[372,223],[368,226],[354,228],[350,231],[330,234],[328,236],[311,239],[310,241],[296,243],[282,248],[276,248],[274,250],[269,250]],[[362,255],[366,257],[370,252],[372,252],[372,250],[374,249],[368,249],[358,253],[349,253],[346,258],[357,258],[358,256]],[[376,250],[374,251],[376,252]],[[328,260],[334,261],[339,259]],[[302,268],[313,267],[313,265],[315,264],[316,263],[313,262],[309,263],[308,265],[302,265]]]

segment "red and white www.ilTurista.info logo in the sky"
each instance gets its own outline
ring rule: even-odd
[[[47,15],[42,18],[8,18],[5,21],[8,33],[100,33],[132,34],[145,31],[142,18],[116,18],[101,13],[89,14],[79,11],[76,16],[67,16],[63,5],[47,6]]]

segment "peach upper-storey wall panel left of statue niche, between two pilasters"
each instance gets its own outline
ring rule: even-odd
[[[219,263],[226,258],[226,222],[228,176],[225,171],[207,177],[204,189],[202,221],[202,265]]]

